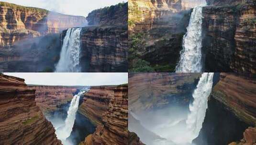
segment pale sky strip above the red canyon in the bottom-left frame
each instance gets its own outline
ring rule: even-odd
[[[128,83],[128,73],[4,73],[40,85],[118,85]]]

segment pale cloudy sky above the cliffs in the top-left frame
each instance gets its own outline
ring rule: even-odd
[[[27,7],[36,7],[68,15],[85,16],[92,10],[127,2],[127,0],[1,0]]]

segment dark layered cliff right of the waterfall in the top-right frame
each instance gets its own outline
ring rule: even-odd
[[[207,0],[203,51],[209,72],[256,73],[256,1]]]

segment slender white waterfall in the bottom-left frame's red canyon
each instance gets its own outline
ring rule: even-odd
[[[71,135],[72,128],[75,123],[80,96],[85,92],[86,90],[81,90],[78,94],[76,94],[73,97],[67,111],[67,118],[65,120],[65,125],[56,129],[57,138],[60,139],[64,145],[66,143],[67,137]]]

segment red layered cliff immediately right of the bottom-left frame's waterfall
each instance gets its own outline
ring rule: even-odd
[[[85,93],[78,111],[87,116],[93,124],[102,124],[102,116],[108,110],[114,90],[115,86],[91,87],[89,92]]]

